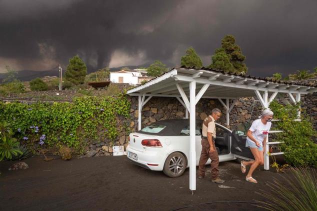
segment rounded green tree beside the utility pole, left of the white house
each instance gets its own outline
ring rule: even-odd
[[[65,78],[73,83],[79,84],[84,82],[85,75],[87,74],[86,64],[81,60],[78,55],[69,59],[69,64],[65,71]]]

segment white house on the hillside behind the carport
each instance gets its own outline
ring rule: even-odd
[[[143,80],[150,80],[153,77],[146,76],[145,69],[122,69],[117,72],[110,72],[110,80],[112,83],[130,83],[139,84]]]

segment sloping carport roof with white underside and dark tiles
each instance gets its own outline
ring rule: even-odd
[[[182,88],[188,96],[188,82],[190,81],[196,82],[196,94],[204,84],[209,84],[202,98],[256,96],[254,90],[300,94],[317,91],[316,87],[303,85],[302,83],[273,81],[249,75],[226,73],[204,67],[195,69],[181,66],[172,68],[170,71],[128,90],[127,94],[175,97],[180,96],[179,88]]]

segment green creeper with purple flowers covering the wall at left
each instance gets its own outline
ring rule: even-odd
[[[119,119],[129,117],[129,109],[124,95],[76,97],[71,103],[0,102],[0,119],[19,131],[16,137],[24,139],[32,152],[66,145],[82,153],[90,140],[114,141],[119,131],[128,132],[127,123]]]

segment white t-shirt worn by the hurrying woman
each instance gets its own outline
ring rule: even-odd
[[[268,133],[270,127],[271,127],[271,122],[267,121],[266,124],[263,124],[261,119],[258,118],[252,122],[251,127],[249,130],[252,132],[253,137],[262,145],[263,139]],[[251,140],[249,137],[246,137],[247,140],[254,142]]]

